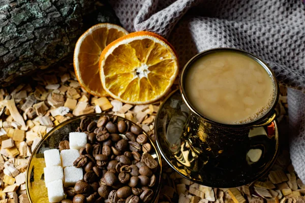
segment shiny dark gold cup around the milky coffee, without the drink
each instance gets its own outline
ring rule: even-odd
[[[185,88],[186,74],[190,66],[197,59],[219,51],[230,51],[250,57],[270,76],[275,86],[275,96],[269,109],[261,117],[247,123],[225,124],[200,114],[190,103]],[[256,180],[267,172],[278,153],[276,105],[279,86],[275,74],[263,60],[233,48],[216,48],[201,52],[184,66],[179,78],[179,90],[190,112],[185,132],[190,149],[195,153],[193,158],[189,157],[189,160],[193,160],[188,166],[189,176],[193,177],[190,179],[207,186],[235,187]],[[232,184],[222,182],[230,178]],[[238,181],[233,181],[235,178]],[[215,179],[218,180],[218,185]]]

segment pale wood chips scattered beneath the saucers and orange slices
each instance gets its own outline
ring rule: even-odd
[[[28,83],[0,89],[0,203],[29,202],[25,174],[32,151],[54,126],[73,116],[107,112],[142,126],[154,137],[154,121],[161,101],[150,105],[123,104],[110,97],[86,93],[70,64],[39,73]],[[282,88],[280,119],[287,123],[286,92]],[[250,185],[221,189],[193,183],[164,161],[159,202],[305,202],[305,185],[297,178],[288,150],[281,151],[272,170]]]

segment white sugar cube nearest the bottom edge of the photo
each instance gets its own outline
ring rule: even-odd
[[[48,183],[49,202],[59,202],[64,199],[63,181],[57,180]]]

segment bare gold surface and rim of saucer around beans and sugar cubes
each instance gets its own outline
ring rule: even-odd
[[[80,125],[80,121],[82,118],[90,118],[94,121],[97,121],[101,116],[107,115],[109,117],[112,117],[113,115],[110,114],[86,114],[81,116],[73,117],[63,123],[60,123],[59,125],[55,126],[52,130],[50,130],[40,141],[40,143],[37,145],[35,150],[32,153],[31,158],[29,159],[27,170],[26,170],[26,193],[29,199],[29,202],[31,203],[45,203],[49,202],[48,200],[48,192],[47,188],[45,187],[45,181],[44,181],[44,170],[43,168],[45,166],[44,161],[44,154],[43,152],[45,150],[49,149],[58,149],[59,142],[63,140],[69,140],[69,132],[76,131],[77,127]],[[126,118],[122,118],[120,116],[117,116],[118,121],[125,120],[129,121]],[[132,121],[130,121],[132,125],[136,125]],[[161,155],[159,151],[157,150],[157,147],[155,143],[150,139],[150,137],[147,135],[147,133],[143,130],[143,133],[146,134],[148,137],[148,143],[150,143],[152,150],[149,152],[151,156],[155,158],[156,161],[158,161],[159,166],[158,170],[155,173],[157,180],[156,184],[154,185],[153,189],[155,194],[154,197],[149,202],[155,202],[158,199],[160,189],[162,187],[161,184],[161,178],[162,178],[162,161],[161,161]],[[97,182],[99,179],[97,180]]]

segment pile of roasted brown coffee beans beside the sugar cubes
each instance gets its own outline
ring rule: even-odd
[[[84,177],[66,188],[68,199],[62,202],[150,202],[160,168],[139,126],[116,116],[103,116],[97,122],[86,117],[77,131],[85,132],[88,140],[74,161],[75,167],[83,168]],[[59,150],[69,146],[67,142],[60,142]]]

